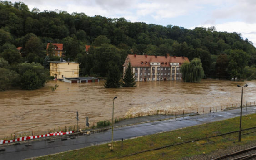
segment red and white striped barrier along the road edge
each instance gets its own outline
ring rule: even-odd
[[[25,136],[25,137],[20,137],[15,140],[0,140],[0,144],[6,144],[6,143],[12,143],[12,142],[18,142],[18,141],[25,141],[25,140],[32,140],[36,138],[42,138],[42,137],[48,137],[48,136],[60,136],[60,135],[67,135],[74,133],[74,131],[67,131],[67,132],[55,132],[55,133],[48,133],[45,135],[37,135],[37,136]]]

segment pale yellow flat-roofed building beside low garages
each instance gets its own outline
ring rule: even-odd
[[[50,76],[56,79],[79,77],[79,65],[77,62],[67,62],[60,58],[60,61],[50,61]]]

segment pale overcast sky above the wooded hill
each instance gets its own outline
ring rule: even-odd
[[[11,0],[13,3],[15,0]],[[18,1],[18,0],[16,0]],[[216,26],[237,32],[256,46],[256,0],[19,0],[30,11],[55,9],[88,16],[124,17],[131,22],[168,24],[194,29]]]

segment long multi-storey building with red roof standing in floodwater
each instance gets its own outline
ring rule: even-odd
[[[130,62],[136,81],[181,80],[180,67],[187,57],[129,54],[123,65],[123,76]]]

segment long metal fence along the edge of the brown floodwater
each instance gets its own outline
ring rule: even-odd
[[[256,102],[247,102],[243,103],[243,107],[250,107],[250,106],[255,106]],[[229,110],[229,109],[235,109],[240,107],[241,104],[236,103],[236,104],[228,104],[228,105],[221,105],[221,106],[214,106],[214,107],[198,107],[196,109],[182,109],[182,110],[173,110],[172,108],[168,110],[154,110],[154,111],[147,111],[147,112],[137,112],[125,116],[118,116],[115,117],[114,123],[117,123],[118,121],[124,120],[124,119],[132,119],[136,117],[142,117],[142,116],[152,116],[152,115],[170,115],[170,116],[186,116],[186,115],[193,115],[193,114],[213,114],[214,112],[220,112],[224,110]],[[254,111],[256,112],[256,110]],[[250,114],[250,113],[248,113]],[[16,139],[19,137],[23,136],[35,136],[35,135],[43,135],[47,133],[52,133],[52,132],[57,132],[57,131],[77,131],[77,129],[82,129],[82,130],[87,130],[87,129],[93,129],[97,128],[97,124],[100,121],[109,121],[112,122],[112,119],[104,119],[104,120],[95,120],[95,121],[88,121],[89,127],[86,126],[85,121],[84,122],[78,122],[78,127],[77,123],[75,121],[70,122],[69,126],[64,126],[64,125],[59,125],[57,128],[50,128],[48,130],[40,130],[40,126],[31,126],[30,131],[24,131],[24,132],[17,132],[13,134],[3,134],[0,135],[0,140],[5,139],[5,140],[11,140],[11,139]],[[45,128],[45,126],[44,126]]]

